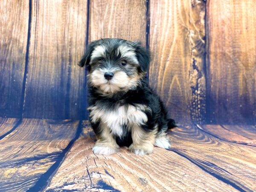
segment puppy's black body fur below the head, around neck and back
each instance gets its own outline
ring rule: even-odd
[[[148,87],[146,79],[143,79],[142,85],[135,90],[129,90],[127,93],[117,93],[113,97],[108,98],[99,95],[96,88],[89,87],[89,106],[94,105],[96,101],[100,101],[102,108],[113,110],[117,105],[123,104],[143,104],[151,108],[152,113],[146,113],[148,122],[143,125],[145,131],[152,131],[154,125],[158,124],[158,132],[176,127],[175,121],[168,118],[166,108],[159,96]],[[93,131],[99,133],[99,123],[92,125]],[[120,146],[129,146],[132,143],[131,133],[126,132],[123,137],[116,137],[117,144]]]

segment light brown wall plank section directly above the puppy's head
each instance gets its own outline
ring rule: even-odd
[[[89,41],[122,38],[145,44],[145,0],[90,1]]]

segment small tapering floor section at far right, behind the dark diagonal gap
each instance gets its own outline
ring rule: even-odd
[[[242,131],[238,131],[236,127],[238,126],[229,125],[226,127],[225,125],[198,125],[198,128],[201,128],[220,139],[244,145],[256,146],[256,134],[252,134],[251,137],[243,136]],[[253,126],[250,126],[250,128],[253,129]],[[252,137],[254,137],[254,139],[251,139]]]

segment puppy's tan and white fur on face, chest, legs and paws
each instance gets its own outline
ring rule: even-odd
[[[106,52],[106,49],[111,48],[111,46],[112,44],[108,44],[106,41],[93,47],[90,56],[91,70],[87,75],[88,84],[96,88],[93,91],[106,98],[122,96],[128,90],[137,89],[138,85],[144,86],[142,81],[144,81],[143,77],[145,76],[145,73],[139,69],[141,66],[137,58],[137,48],[132,44],[124,43],[119,45],[117,49],[109,49],[109,52]],[[118,60],[111,62],[113,56],[116,56]],[[97,59],[99,57],[105,59],[101,58],[100,61]],[[113,76],[108,78],[105,73],[113,73]],[[157,134],[158,125],[155,125],[153,131],[145,131],[142,128],[148,122],[146,112],[152,112],[148,106],[129,105],[123,99],[122,101],[117,100],[115,106],[110,109],[108,105],[103,105],[102,102],[96,100],[94,105],[88,109],[90,110],[90,121],[92,123],[100,122],[96,131],[98,134],[97,142],[93,147],[93,152],[96,154],[112,154],[118,150],[119,146],[115,137],[122,138],[127,134],[124,133],[124,125],[128,129],[126,131],[131,131],[133,143],[129,150],[135,154],[151,154],[154,145],[166,147],[169,144],[165,135]]]

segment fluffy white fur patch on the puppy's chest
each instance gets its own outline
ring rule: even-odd
[[[145,111],[151,111],[147,106],[122,105],[116,107],[115,110],[102,109],[97,104],[88,108],[90,110],[90,118],[92,122],[101,121],[108,125],[113,134],[119,137],[123,134],[123,125],[143,125],[148,121]]]

